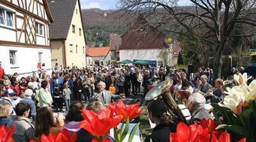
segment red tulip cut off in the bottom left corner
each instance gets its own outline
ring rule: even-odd
[[[15,131],[15,125],[12,129],[8,129],[5,125],[0,126],[0,142],[15,142],[13,139],[13,133]]]

